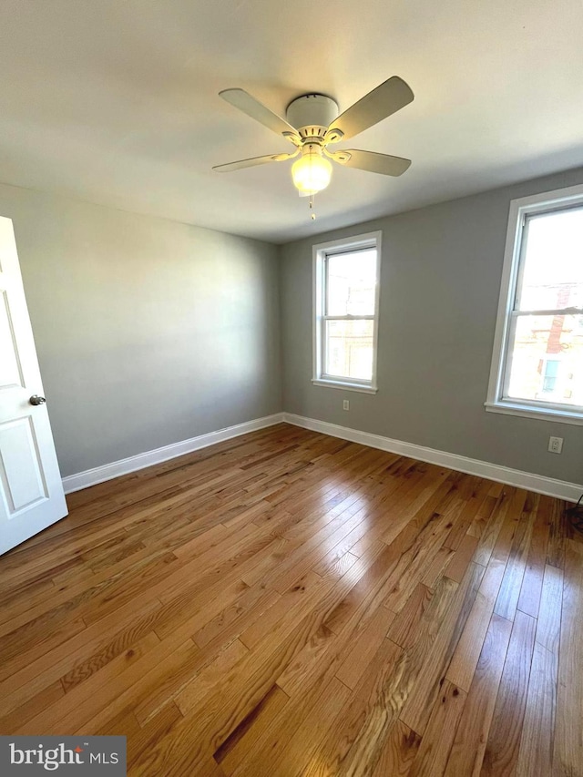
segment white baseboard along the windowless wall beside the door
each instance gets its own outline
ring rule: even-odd
[[[73,491],[79,491],[81,488],[96,486],[97,483],[103,483],[105,480],[111,480],[114,477],[119,477],[119,475],[128,475],[130,472],[136,472],[138,469],[160,464],[160,462],[168,461],[169,459],[176,458],[176,456],[190,454],[192,451],[198,451],[199,448],[206,448],[208,445],[215,445],[215,443],[221,443],[223,440],[230,440],[232,437],[247,435],[249,432],[256,432],[258,429],[264,429],[267,426],[281,424],[282,421],[283,414],[276,413],[266,415],[263,418],[256,418],[253,421],[246,421],[244,424],[227,426],[226,429],[209,432],[208,435],[190,437],[189,440],[181,440],[179,443],[164,445],[162,448],[129,456],[128,458],[111,462],[111,464],[86,469],[85,472],[77,472],[76,475],[67,475],[63,478],[63,488],[66,494],[70,494]]]

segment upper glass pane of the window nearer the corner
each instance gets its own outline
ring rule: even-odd
[[[326,314],[374,315],[376,249],[326,257]]]

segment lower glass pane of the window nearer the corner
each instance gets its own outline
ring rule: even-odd
[[[327,321],[325,335],[325,373],[373,380],[372,321]]]

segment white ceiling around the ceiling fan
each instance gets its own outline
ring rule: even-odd
[[[2,0],[0,180],[283,242],[583,164],[581,0]],[[312,222],[289,144],[217,93],[341,111],[387,77],[414,103],[343,147]]]

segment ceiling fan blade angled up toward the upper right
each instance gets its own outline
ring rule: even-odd
[[[341,139],[353,138],[364,129],[373,127],[373,124],[401,110],[413,99],[414,94],[403,78],[398,76],[389,78],[332,121],[326,133],[330,136],[328,142],[334,143]],[[334,130],[340,130],[342,135],[334,137]]]

